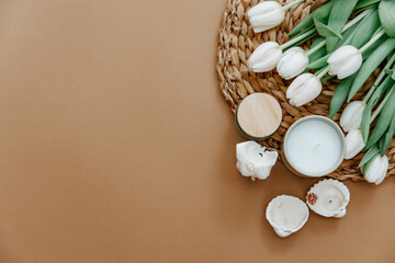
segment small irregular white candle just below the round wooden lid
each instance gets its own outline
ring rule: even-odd
[[[244,176],[264,180],[269,176],[271,168],[278,159],[276,151],[268,151],[253,140],[236,146],[237,170]]]

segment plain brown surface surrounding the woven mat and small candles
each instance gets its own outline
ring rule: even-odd
[[[393,262],[395,181],[280,239],[235,169],[218,91],[226,0],[0,1],[0,262]]]

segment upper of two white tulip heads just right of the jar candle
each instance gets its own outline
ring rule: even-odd
[[[340,117],[340,126],[346,133],[360,128],[365,106],[361,101],[353,101],[347,105]]]

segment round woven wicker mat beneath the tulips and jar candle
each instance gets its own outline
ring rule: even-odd
[[[293,0],[278,0],[281,4],[292,1]],[[235,113],[240,101],[248,94],[264,92],[276,98],[283,112],[281,127],[273,137],[268,140],[260,141],[260,144],[269,149],[276,150],[281,155],[280,149],[283,136],[295,121],[307,115],[328,116],[329,104],[337,87],[337,81],[325,82],[323,84],[323,92],[316,100],[304,106],[294,107],[290,105],[285,98],[286,87],[289,87],[291,81],[283,80],[275,70],[266,73],[252,72],[248,70],[247,60],[251,53],[263,42],[275,41],[279,44],[285,43],[289,39],[286,36],[287,32],[290,32],[317,7],[327,2],[327,0],[306,0],[287,11],[281,25],[267,32],[256,34],[248,22],[247,12],[251,7],[259,2],[259,0],[228,0],[219,28],[217,72],[219,77],[221,91],[228,102],[233,113]],[[311,43],[311,41],[306,42],[303,47],[308,48]],[[359,100],[363,96],[365,90],[372,85],[380,71],[380,69],[374,71],[361,91],[354,96],[354,100]],[[341,112],[342,108],[332,118],[335,122],[339,121]],[[393,169],[395,165],[394,153],[395,140],[391,142],[387,151],[390,160],[387,176],[395,173],[395,170]],[[362,157],[363,155],[360,153],[352,160],[345,160],[342,164],[328,176],[337,180],[364,180],[360,169],[358,168]]]

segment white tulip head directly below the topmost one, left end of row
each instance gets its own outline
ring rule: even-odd
[[[253,72],[267,72],[275,68],[282,55],[278,43],[266,42],[251,54],[248,67]]]

